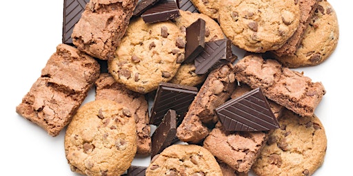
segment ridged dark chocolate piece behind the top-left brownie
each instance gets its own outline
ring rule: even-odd
[[[74,25],[81,19],[81,14],[85,10],[85,5],[90,0],[64,0],[63,1],[63,43],[74,45],[71,34]]]

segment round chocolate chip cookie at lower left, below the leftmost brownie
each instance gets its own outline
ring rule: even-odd
[[[65,133],[65,156],[73,172],[122,175],[134,159],[137,134],[129,109],[112,100],[79,108]]]

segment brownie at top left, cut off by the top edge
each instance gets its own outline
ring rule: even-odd
[[[72,43],[90,56],[113,58],[136,5],[137,0],[91,0],[74,25]]]

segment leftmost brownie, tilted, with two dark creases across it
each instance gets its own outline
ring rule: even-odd
[[[99,63],[94,58],[70,45],[59,44],[16,112],[49,135],[59,135],[98,76]]]

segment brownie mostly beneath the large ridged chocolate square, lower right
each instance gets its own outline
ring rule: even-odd
[[[243,83],[234,89],[231,98],[238,98],[252,89]],[[271,100],[268,104],[276,118],[283,107]],[[237,173],[248,173],[272,131],[225,131],[221,123],[216,124],[210,135],[205,138],[203,147],[207,148],[220,162],[227,164]],[[221,149],[220,149],[221,148]],[[222,168],[222,167],[221,167]],[[225,167],[227,168],[227,167]],[[228,170],[232,170],[228,168]]]

